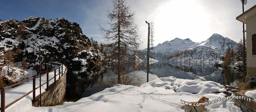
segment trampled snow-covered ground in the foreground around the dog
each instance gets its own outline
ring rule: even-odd
[[[170,88],[170,89],[169,89]],[[176,91],[176,92],[175,92]],[[206,96],[209,101],[225,97],[224,87],[213,81],[193,81],[178,79],[173,76],[158,78],[142,86],[115,85],[111,88],[82,98],[77,102],[65,102],[53,107],[32,107],[31,99],[23,98],[8,108],[7,112],[37,111],[37,112],[184,112],[180,108],[181,100],[186,102],[198,101]],[[242,112],[233,102],[217,102],[207,105],[203,112]],[[22,108],[22,109],[21,109]]]

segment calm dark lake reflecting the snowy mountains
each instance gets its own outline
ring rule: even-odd
[[[143,82],[141,84],[147,82],[147,62],[139,62],[128,68],[131,72],[142,76]],[[96,82],[104,80],[106,74],[111,71],[109,67],[95,68],[92,70],[82,68],[79,71],[69,69],[67,71],[67,101],[77,101],[83,97],[88,97],[104,90],[104,88],[98,87]],[[237,82],[242,81],[242,73],[232,69],[217,68],[214,66],[214,63],[151,63],[149,81],[167,76],[195,81],[214,81],[230,86],[237,86]]]

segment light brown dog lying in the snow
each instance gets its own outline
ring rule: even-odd
[[[190,112],[190,111],[197,111],[197,112],[202,112],[203,110],[207,110],[207,108],[205,108],[204,106],[193,106],[194,103],[203,103],[203,102],[207,102],[209,99],[206,98],[205,96],[202,96],[197,102],[189,102],[192,103],[192,106],[189,105],[182,105],[181,108],[184,108],[184,110],[186,112]]]

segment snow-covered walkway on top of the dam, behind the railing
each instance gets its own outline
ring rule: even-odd
[[[57,65],[56,66],[56,69],[58,68],[59,66]],[[63,72],[65,72],[65,66],[63,66]],[[59,74],[58,70],[56,72],[56,75]],[[45,83],[47,78],[46,78],[46,74],[41,76],[41,84]],[[54,72],[49,72],[49,80],[51,78],[54,77]],[[56,80],[58,80],[58,76],[56,76]],[[54,83],[54,79],[52,79],[51,81],[49,81],[49,85],[51,85],[52,83]],[[39,82],[39,77],[36,78],[36,87],[39,87],[40,85],[40,82]],[[45,89],[46,89],[46,84],[44,84],[42,87],[41,87],[41,92],[45,92]],[[27,83],[24,83],[18,87],[14,87],[10,90],[7,90],[5,91],[5,106],[11,104],[12,102],[14,102],[15,100],[19,99],[20,97],[22,97],[23,95],[29,93],[30,91],[33,90],[33,80],[30,80],[29,82]],[[39,88],[36,89],[36,96],[38,96],[40,93],[40,90]],[[29,97],[29,99],[33,99],[33,93],[30,93],[27,97]],[[25,97],[26,98],[26,97]],[[24,98],[23,98],[24,99]],[[18,101],[19,102],[19,101]],[[1,102],[0,102],[1,104]],[[11,107],[9,107],[11,108]],[[8,109],[8,108],[7,108]]]

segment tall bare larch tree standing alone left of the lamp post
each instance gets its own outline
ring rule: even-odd
[[[108,11],[110,22],[109,29],[100,26],[107,46],[113,48],[111,57],[117,60],[118,84],[121,83],[121,62],[128,63],[127,52],[131,49],[138,49],[141,44],[139,39],[138,26],[134,23],[135,13],[130,11],[130,6],[125,0],[113,0],[113,10]]]

